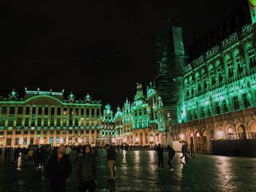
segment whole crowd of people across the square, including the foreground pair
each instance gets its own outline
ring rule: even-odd
[[[108,181],[113,182],[116,179],[115,164],[118,158],[118,153],[121,150],[121,157],[124,158],[129,150],[128,145],[118,145],[116,147],[105,145],[95,146],[93,149],[90,145],[86,146],[69,146],[60,145],[59,147],[53,146],[37,146],[37,147],[5,147],[3,150],[0,148],[1,155],[4,154],[4,161],[13,161],[18,163],[18,158],[23,155],[23,162],[26,164],[34,164],[36,170],[45,169],[45,175],[49,180],[49,191],[65,191],[66,180],[72,172],[72,163],[70,155],[74,157],[75,172],[78,181],[78,191],[96,191],[97,185],[97,156],[99,148],[101,151],[106,150],[106,161],[108,164],[109,177]],[[118,151],[118,153],[116,152]],[[157,151],[158,168],[163,170],[164,166],[164,147],[161,144],[155,145],[154,150]],[[194,157],[194,146],[187,145],[186,142],[182,143],[182,158],[185,161],[189,157]],[[170,171],[173,171],[172,161],[176,151],[170,145],[167,146],[167,164],[170,166]],[[25,161],[24,161],[25,160]],[[46,162],[48,162],[46,164]],[[182,162],[182,161],[181,161]]]

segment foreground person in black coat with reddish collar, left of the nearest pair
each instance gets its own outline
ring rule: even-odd
[[[61,145],[58,154],[53,154],[48,161],[46,177],[50,180],[49,192],[66,192],[66,180],[72,171],[72,165],[65,153],[65,146]]]

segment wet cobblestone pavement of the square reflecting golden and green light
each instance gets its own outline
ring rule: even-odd
[[[181,153],[173,160],[174,171],[157,168],[155,151],[118,153],[116,181],[108,183],[105,151],[99,151],[97,191],[256,191],[256,158],[233,158],[196,154],[187,164],[180,164]],[[72,158],[72,161],[75,160]],[[43,172],[23,165],[18,171],[12,163],[0,162],[0,191],[47,191]],[[67,181],[67,191],[76,191],[75,169]]]

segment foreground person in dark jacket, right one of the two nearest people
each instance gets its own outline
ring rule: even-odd
[[[95,155],[91,153],[91,147],[89,145],[86,145],[83,156],[78,158],[77,170],[79,191],[84,192],[87,189],[89,192],[96,191],[97,160]]]

